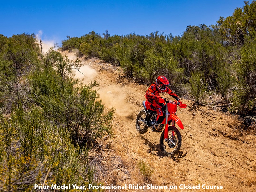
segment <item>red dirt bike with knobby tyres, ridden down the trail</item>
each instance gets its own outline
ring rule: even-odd
[[[153,114],[150,117],[150,129],[153,132],[162,132],[160,137],[160,149],[164,153],[164,155],[172,157],[179,152],[181,147],[181,135],[180,131],[175,127],[175,122],[178,124],[180,129],[184,129],[180,119],[176,116],[177,106],[179,106],[180,108],[186,108],[187,105],[178,105],[177,101],[169,101],[167,98],[163,99],[166,103],[166,114],[164,120],[160,121],[161,123],[157,123],[160,116],[163,116],[161,106],[157,105],[155,110],[153,110]],[[145,123],[145,118],[146,111],[148,109],[151,109],[150,103],[147,100],[143,101],[142,105],[144,109],[139,112],[136,118],[136,130],[140,134],[144,134],[148,131],[148,127]]]

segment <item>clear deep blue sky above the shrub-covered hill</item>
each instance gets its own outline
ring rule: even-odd
[[[1,1],[0,34],[35,33],[60,46],[67,35],[80,37],[92,30],[181,35],[188,25],[215,24],[243,6],[243,0]]]

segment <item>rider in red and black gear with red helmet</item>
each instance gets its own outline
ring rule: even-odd
[[[162,75],[157,77],[156,82],[150,85],[150,87],[148,88],[148,91],[145,94],[145,97],[148,100],[148,102],[151,104],[150,107],[152,109],[155,109],[156,104],[158,104],[162,107],[161,110],[163,113],[164,111],[166,111],[166,106],[164,105],[164,99],[159,96],[159,93],[161,92],[166,92],[169,95],[171,95],[174,99],[178,101],[178,105],[182,104],[182,102],[180,101],[180,98],[175,93],[173,93],[171,89],[167,87],[168,85],[170,85],[168,79]],[[145,119],[147,127],[151,127],[149,120],[152,114],[153,114],[153,111],[148,109],[146,119]],[[163,117],[164,117],[164,114],[163,114]],[[161,119],[159,119],[158,121],[159,121],[158,123],[160,123]]]

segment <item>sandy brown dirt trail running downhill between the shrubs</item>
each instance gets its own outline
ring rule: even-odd
[[[233,122],[229,116],[206,107],[191,110],[192,102],[181,98],[188,107],[177,111],[184,125],[184,130],[179,129],[180,153],[175,158],[165,157],[159,152],[160,133],[148,130],[139,135],[135,130],[135,118],[143,108],[148,87],[126,80],[118,68],[100,60],[82,61],[85,76],[77,73],[79,77],[84,77],[85,83],[97,80],[103,103],[116,108],[112,123],[115,136],[104,140],[92,154],[98,178],[105,185],[176,185],[178,189],[173,191],[195,191],[181,190],[179,185],[206,184],[222,185],[224,189],[196,191],[256,191],[255,135],[239,136],[228,127]],[[139,160],[154,170],[150,180],[143,179]]]

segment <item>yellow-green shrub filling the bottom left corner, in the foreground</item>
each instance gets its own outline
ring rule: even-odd
[[[52,125],[41,109],[15,109],[0,121],[1,191],[31,191],[44,180],[58,185],[93,180],[86,151],[80,153],[65,127]]]

